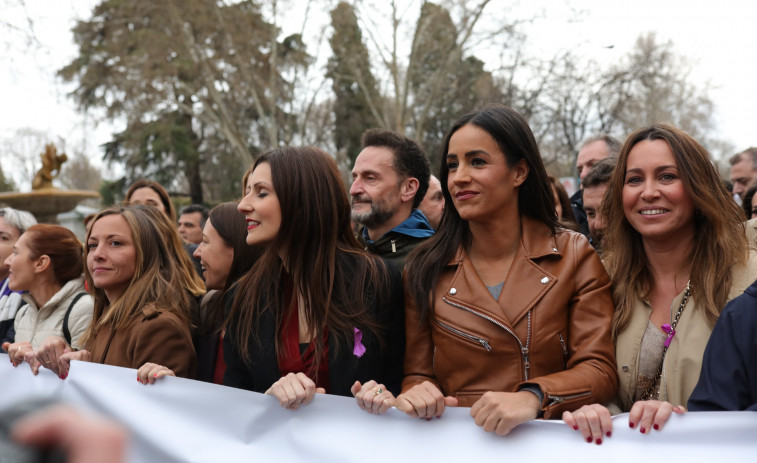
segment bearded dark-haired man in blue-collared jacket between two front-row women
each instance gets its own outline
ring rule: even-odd
[[[414,140],[383,129],[363,133],[352,169],[352,221],[370,252],[404,266],[415,247],[434,234],[418,205],[431,169]]]

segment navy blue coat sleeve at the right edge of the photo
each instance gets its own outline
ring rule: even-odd
[[[757,411],[757,282],[720,314],[688,405],[692,411]]]

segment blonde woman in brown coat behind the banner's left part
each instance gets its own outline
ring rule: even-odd
[[[177,376],[194,377],[190,297],[150,209],[112,207],[93,219],[87,232],[85,276],[94,291],[95,308],[80,341],[83,349],[72,351],[62,338],[52,337],[34,352],[61,378],[67,376],[71,360],[134,369],[153,362]]]

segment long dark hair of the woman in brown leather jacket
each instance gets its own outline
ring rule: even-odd
[[[440,156],[439,181],[448,207],[444,208],[439,230],[415,248],[408,256],[405,266],[405,291],[415,300],[421,320],[432,310],[431,295],[442,268],[455,256],[461,244],[468,248],[471,242],[468,221],[460,218],[447,187],[449,140],[455,132],[468,124],[491,135],[504,153],[508,167],[525,159],[528,177],[519,188],[518,213],[543,222],[552,233],[558,227],[549,176],[544,169],[531,128],[523,116],[507,106],[490,105],[458,119],[444,137]]]

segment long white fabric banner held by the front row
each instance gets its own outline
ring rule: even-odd
[[[499,437],[475,425],[467,408],[441,419],[411,419],[397,410],[369,415],[349,398],[317,395],[297,411],[269,396],[182,378],[153,385],[136,371],[74,362],[65,381],[0,355],[0,409],[32,396],[109,416],[131,434],[134,462],[477,461],[500,455],[526,461],[753,461],[757,413],[686,413],[642,435],[628,415],[614,417],[611,438],[587,444],[561,421],[535,420]]]

